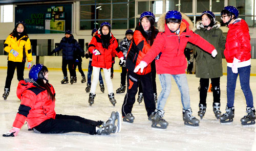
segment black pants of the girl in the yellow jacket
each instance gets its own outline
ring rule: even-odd
[[[18,81],[24,80],[24,68],[25,68],[25,62],[13,62],[8,61],[7,63],[7,77],[5,81],[5,88],[10,89],[12,78],[15,72],[15,69],[17,68],[17,79]]]

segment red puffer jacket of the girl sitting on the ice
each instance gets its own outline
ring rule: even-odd
[[[55,119],[56,115],[55,101],[49,99],[47,90],[32,80],[25,79],[25,81],[19,81],[17,87],[17,96],[22,102],[12,126],[18,129],[22,128],[26,118],[29,128],[34,128],[47,119]],[[49,87],[55,95],[53,86],[49,84]]]

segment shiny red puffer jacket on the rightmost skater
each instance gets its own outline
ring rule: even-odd
[[[224,55],[228,63],[234,57],[241,62],[251,59],[251,44],[248,24],[241,18],[236,19],[228,26],[227,40]]]

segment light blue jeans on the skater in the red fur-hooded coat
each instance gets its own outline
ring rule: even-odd
[[[174,78],[181,94],[181,103],[183,109],[187,110],[190,108],[190,98],[189,89],[187,84],[186,74],[158,74],[162,91],[158,97],[157,109],[163,110],[166,100],[170,94],[170,89],[172,88],[171,77]]]

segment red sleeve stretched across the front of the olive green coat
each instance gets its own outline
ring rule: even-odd
[[[202,38],[198,34],[195,34],[193,31],[190,31],[189,42],[196,44],[197,46],[199,46],[204,51],[210,54],[215,49],[214,45],[210,44],[208,41],[206,41],[204,38]]]

